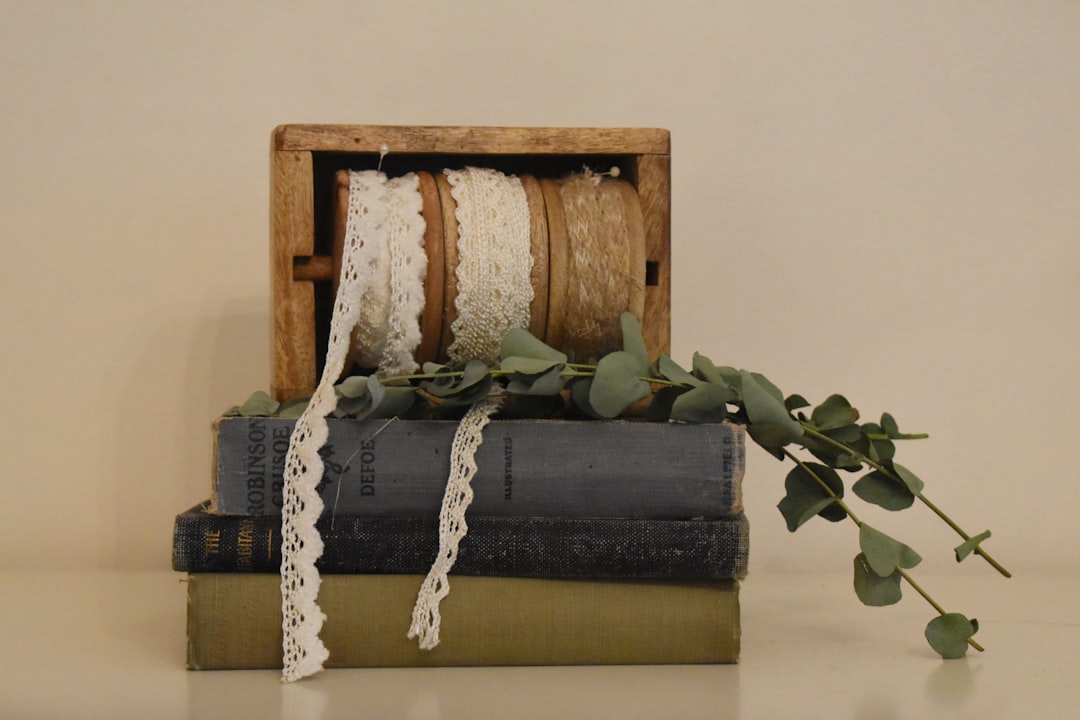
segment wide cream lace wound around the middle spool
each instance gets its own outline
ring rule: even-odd
[[[447,354],[492,365],[507,330],[529,326],[532,252],[519,178],[489,168],[445,171],[457,202],[458,317]]]

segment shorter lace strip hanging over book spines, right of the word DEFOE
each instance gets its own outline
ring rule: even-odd
[[[476,474],[476,448],[484,441],[484,427],[491,413],[499,409],[497,398],[481,400],[469,408],[454,436],[450,447],[450,476],[446,481],[443,507],[438,513],[438,555],[420,586],[413,608],[409,638],[419,638],[421,650],[438,644],[442,616],[438,603],[450,592],[447,573],[458,558],[458,544],[465,536],[465,510],[473,499],[472,483]]]

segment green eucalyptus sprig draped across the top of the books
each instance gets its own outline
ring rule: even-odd
[[[853,584],[867,606],[899,602],[907,583],[936,611],[926,628],[930,646],[943,657],[960,657],[969,647],[982,651],[973,638],[978,622],[947,612],[914,579],[910,570],[921,556],[907,544],[867,525],[851,508],[840,473],[863,473],[852,485],[856,498],[887,511],[910,507],[916,500],[930,508],[962,539],[954,548],[957,561],[978,555],[1001,574],[1008,570],[982,543],[989,530],[969,534],[923,492],[923,481],[894,459],[896,443],[922,439],[903,433],[888,412],[879,422],[860,423],[860,413],[842,395],[831,395],[816,406],[800,395],[784,394],[759,372],[717,366],[694,353],[689,370],[671,357],[649,361],[640,325],[631,314],[620,318],[622,350],[596,364],[573,363],[525,329],[512,329],[502,340],[497,366],[470,362],[462,367],[427,363],[422,372],[392,378],[350,377],[338,383],[338,417],[420,418],[460,413],[491,394],[508,398],[526,417],[578,413],[596,419],[617,418],[639,408],[648,420],[739,423],[751,438],[779,460],[794,466],[784,479],[778,504],[787,529],[795,532],[814,517],[850,519],[859,529]],[[256,393],[233,415],[297,417],[303,402],[279,406],[266,393]],[[809,415],[806,410],[809,409]],[[814,460],[802,459],[801,449]]]

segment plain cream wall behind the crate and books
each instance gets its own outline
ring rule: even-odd
[[[999,559],[1080,569],[1077,3],[0,15],[0,567],[168,567],[211,420],[268,384],[270,131],[324,122],[670,128],[675,357],[893,412]],[[850,567],[852,527],[788,536],[785,472],[752,450],[752,573]],[[928,513],[879,522],[951,566]]]

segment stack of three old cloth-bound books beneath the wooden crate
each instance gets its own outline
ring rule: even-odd
[[[294,421],[214,425],[212,498],[176,517],[188,667],[282,665],[281,504]],[[441,606],[406,637],[438,552],[453,421],[329,420],[319,491],[327,667],[732,663],[746,573],[731,423],[494,420]]]

